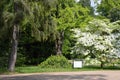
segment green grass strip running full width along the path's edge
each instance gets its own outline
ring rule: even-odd
[[[120,67],[106,66],[101,69],[99,66],[84,66],[83,68],[40,68],[39,66],[16,67],[17,73],[42,73],[42,72],[73,72],[73,71],[95,71],[95,70],[120,70]],[[0,69],[0,74],[11,74],[7,69]]]

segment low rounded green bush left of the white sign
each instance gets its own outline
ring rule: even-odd
[[[70,68],[71,64],[64,56],[50,56],[39,66],[41,68]]]

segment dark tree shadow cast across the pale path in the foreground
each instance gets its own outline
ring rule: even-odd
[[[74,75],[29,75],[29,76],[14,76],[4,77],[0,80],[107,80],[106,75],[101,74],[74,74]]]

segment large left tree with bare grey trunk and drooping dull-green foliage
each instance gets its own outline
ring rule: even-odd
[[[12,35],[12,48],[8,65],[9,71],[14,71],[17,58],[19,30],[21,28],[25,29],[27,25],[30,25],[32,29],[31,34],[35,38],[37,34],[39,37],[36,39],[38,40],[45,40],[47,39],[46,36],[49,37],[51,34],[53,34],[53,24],[51,17],[49,17],[50,14],[48,13],[51,8],[50,5],[46,3],[48,3],[46,0],[38,2],[28,0],[13,0],[8,1],[4,6],[2,14],[4,25],[2,26],[2,30],[6,32],[6,30],[9,28]]]

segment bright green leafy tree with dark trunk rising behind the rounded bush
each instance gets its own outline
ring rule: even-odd
[[[54,20],[57,26],[56,54],[62,54],[64,34],[71,28],[78,27],[86,17],[89,10],[77,4],[74,0],[58,0]]]

